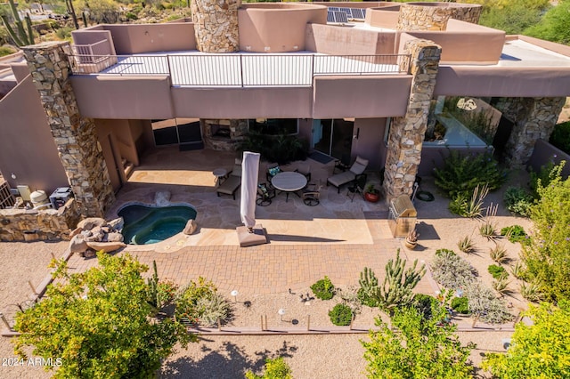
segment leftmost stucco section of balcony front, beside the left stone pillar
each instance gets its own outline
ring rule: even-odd
[[[71,85],[84,117],[172,118],[170,79],[73,76]]]

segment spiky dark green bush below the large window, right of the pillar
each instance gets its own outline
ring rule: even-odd
[[[497,164],[493,153],[461,153],[449,150],[444,158],[444,166],[434,169],[436,186],[449,198],[462,195],[471,198],[477,186],[487,185],[489,190],[498,189],[507,179],[507,172]]]

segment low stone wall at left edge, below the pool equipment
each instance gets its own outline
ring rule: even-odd
[[[69,232],[80,219],[79,207],[73,198],[58,210],[2,209],[0,241],[69,239]]]

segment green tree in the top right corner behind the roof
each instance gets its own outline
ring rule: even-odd
[[[562,0],[550,8],[541,22],[525,30],[525,35],[535,36],[559,44],[570,44],[570,0]]]

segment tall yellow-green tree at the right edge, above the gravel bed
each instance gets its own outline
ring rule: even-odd
[[[560,176],[565,163],[552,169],[549,183],[538,183],[540,199],[531,208],[534,233],[521,253],[525,279],[551,302],[570,298],[570,178]]]

